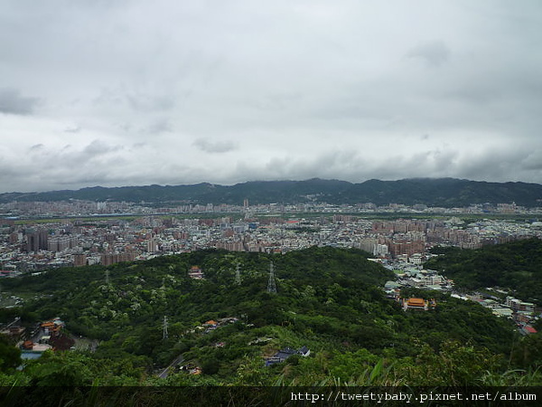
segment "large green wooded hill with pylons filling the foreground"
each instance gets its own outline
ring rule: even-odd
[[[266,291],[271,261],[276,293]],[[235,281],[238,264],[240,285]],[[205,279],[190,279],[192,266],[201,267]],[[367,253],[329,247],[285,255],[195,251],[6,279],[4,290],[44,296],[23,309],[5,311],[5,320],[14,313],[27,321],[61,317],[73,335],[99,339],[100,344],[94,353],[44,355],[23,372],[0,379],[29,384],[370,380],[459,385],[507,368],[515,340],[507,320],[477,304],[419,290],[405,295],[436,298],[437,308],[405,312],[384,297],[381,287],[388,279],[392,273],[367,260]],[[205,324],[210,320],[214,327]],[[264,364],[265,357],[285,347],[302,346],[311,350],[309,357]],[[202,373],[176,370],[165,379],[154,375],[180,355],[182,364],[197,365]],[[448,365],[452,355],[463,359]],[[453,383],[447,382],[450,374]]]

